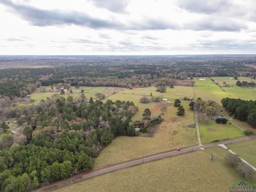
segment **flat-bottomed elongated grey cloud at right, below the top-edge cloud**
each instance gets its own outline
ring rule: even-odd
[[[195,22],[185,23],[184,27],[191,30],[211,30],[211,31],[239,31],[246,29],[247,25],[232,19],[207,17]]]

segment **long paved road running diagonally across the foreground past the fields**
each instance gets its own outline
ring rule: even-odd
[[[35,190],[35,192],[53,191],[55,189],[65,187],[67,185],[71,185],[71,184],[77,183],[79,181],[83,181],[83,180],[86,180],[86,179],[89,179],[89,178],[92,178],[92,177],[95,177],[95,176],[98,176],[98,175],[101,175],[101,174],[109,173],[109,172],[112,172],[112,171],[121,170],[121,169],[124,169],[126,167],[140,165],[142,163],[152,162],[152,161],[156,161],[158,159],[162,159],[162,158],[166,158],[166,157],[172,157],[172,156],[176,156],[176,155],[180,155],[180,154],[190,153],[190,152],[192,152],[196,149],[200,149],[200,148],[213,147],[213,146],[218,146],[220,144],[229,144],[229,143],[245,141],[245,140],[249,140],[249,139],[256,139],[256,136],[248,136],[248,137],[243,137],[243,138],[238,138],[238,139],[233,139],[233,140],[215,142],[215,143],[211,143],[211,144],[208,144],[208,145],[188,147],[188,148],[180,149],[179,151],[173,150],[173,151],[169,151],[169,152],[166,152],[166,153],[152,155],[152,156],[140,158],[140,159],[137,159],[137,160],[134,160],[134,161],[130,161],[130,162],[126,162],[126,163],[106,167],[106,168],[103,168],[103,169],[100,169],[100,170],[87,171],[87,172],[84,172],[84,173],[74,175],[71,178],[57,181],[55,183],[52,183],[49,186],[39,188],[39,189]]]

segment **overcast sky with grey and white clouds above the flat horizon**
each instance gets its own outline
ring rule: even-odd
[[[0,0],[0,54],[255,54],[255,7],[255,0]]]

